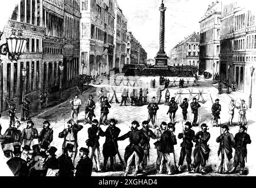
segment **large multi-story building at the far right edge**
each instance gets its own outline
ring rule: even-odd
[[[220,76],[222,80],[228,80],[229,77],[229,85],[234,81],[238,90],[249,93],[250,68],[256,65],[255,8],[245,7],[241,3],[222,2]],[[255,82],[254,73],[252,85],[255,85]],[[252,89],[252,93],[255,93],[254,90]]]

